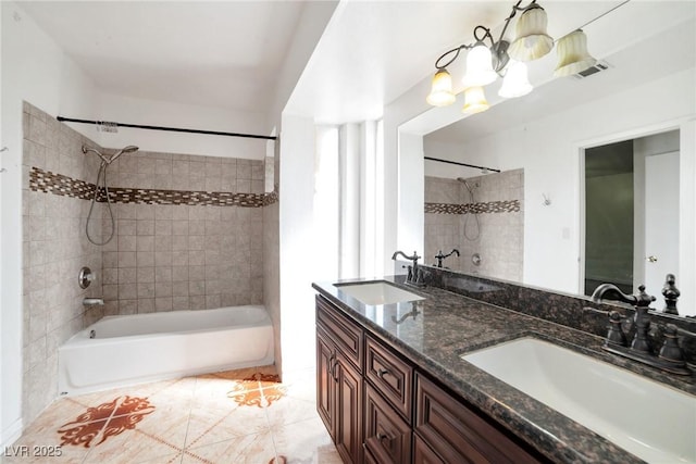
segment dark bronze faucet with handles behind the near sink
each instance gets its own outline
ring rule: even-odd
[[[599,303],[607,294],[614,296],[616,298],[611,298],[612,300],[633,304],[635,309],[635,316],[633,317],[635,335],[629,347],[621,327],[622,315],[618,311],[610,311],[609,329],[605,344],[601,347],[604,350],[672,374],[692,375],[678,341],[678,334],[682,330],[673,324],[659,327],[664,333],[664,342],[659,353],[655,354],[649,337],[650,316],[648,314],[648,309],[650,303],[655,301],[655,297],[645,292],[645,286],[639,286],[636,294],[625,294],[612,284],[602,284],[595,289],[592,299],[594,302]]]

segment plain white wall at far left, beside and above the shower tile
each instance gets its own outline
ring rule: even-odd
[[[94,117],[95,86],[14,3],[2,2],[2,140],[0,174],[0,446],[22,431],[22,101],[50,114]],[[83,127],[83,130],[86,128]],[[87,128],[88,129],[88,128]],[[96,133],[85,133],[94,138]]]

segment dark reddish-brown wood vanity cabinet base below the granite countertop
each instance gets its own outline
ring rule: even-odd
[[[539,462],[321,296],[316,409],[346,463]]]

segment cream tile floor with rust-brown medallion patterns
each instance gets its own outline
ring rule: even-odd
[[[0,461],[340,463],[316,414],[313,371],[291,377],[279,383],[264,366],[62,398]]]

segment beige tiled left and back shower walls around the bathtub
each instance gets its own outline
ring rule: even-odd
[[[85,225],[100,163],[82,146],[104,150],[27,103],[23,126],[29,424],[58,394],[58,347],[103,315],[262,303],[263,206],[277,208],[277,195],[263,192],[262,161],[124,153],[108,168],[114,236],[95,246]],[[90,231],[101,241],[111,228],[97,202]],[[77,285],[84,265],[97,276],[87,290]],[[86,308],[86,297],[105,305]]]

